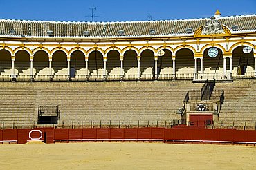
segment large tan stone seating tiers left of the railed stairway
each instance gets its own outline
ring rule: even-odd
[[[39,105],[59,105],[60,121],[159,121],[179,119],[188,89],[201,84],[179,82],[1,82],[0,122],[37,124]],[[21,121],[21,122],[20,122]],[[16,123],[17,122],[17,123]],[[1,123],[0,123],[1,124]],[[22,123],[21,123],[22,125]],[[8,124],[6,124],[8,126]]]

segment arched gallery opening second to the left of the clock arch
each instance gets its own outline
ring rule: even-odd
[[[173,73],[172,52],[167,49],[163,49],[163,51],[165,54],[158,56],[158,79],[170,79]]]

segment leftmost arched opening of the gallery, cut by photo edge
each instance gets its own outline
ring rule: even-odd
[[[15,74],[17,75],[17,70]],[[0,50],[0,78],[10,79],[12,75],[12,57],[8,50]]]

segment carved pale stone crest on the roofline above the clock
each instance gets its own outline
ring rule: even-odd
[[[212,35],[212,34],[224,34],[224,30],[219,21],[215,17],[211,17],[210,21],[205,23],[203,27],[202,35]]]

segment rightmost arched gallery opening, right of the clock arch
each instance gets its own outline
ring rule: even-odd
[[[246,46],[238,46],[232,53],[232,76],[254,77],[253,50],[244,50]]]

